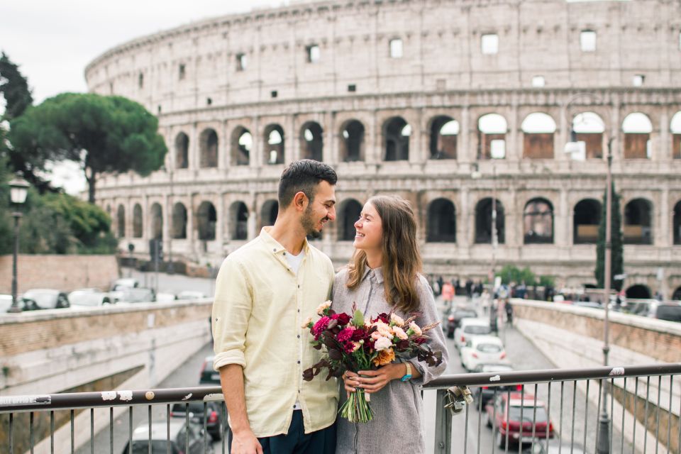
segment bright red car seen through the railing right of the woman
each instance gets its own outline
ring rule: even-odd
[[[506,448],[506,434],[509,444],[532,443],[533,429],[535,439],[546,438],[546,431],[548,437],[553,438],[553,424],[548,421],[543,402],[536,400],[532,394],[525,394],[523,398],[519,392],[511,392],[510,397],[508,393],[499,394],[496,402],[485,406],[485,421],[487,427],[494,426],[494,438],[499,448]]]

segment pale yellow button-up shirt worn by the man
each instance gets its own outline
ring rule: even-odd
[[[335,379],[324,380],[324,373],[311,382],[302,379],[303,370],[322,354],[311,347],[311,334],[301,325],[331,297],[333,265],[305,241],[296,275],[269,229],[262,228],[258,238],[222,263],[212,318],[213,367],[243,367],[246,412],[257,437],[287,433],[296,401],[305,433],[331,426],[338,409]]]

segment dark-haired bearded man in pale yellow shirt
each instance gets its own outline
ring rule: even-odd
[[[336,380],[304,382],[321,359],[301,328],[331,296],[333,265],[306,237],[336,218],[336,172],[292,162],[272,227],[231,253],[216,279],[214,368],[229,414],[231,454],[333,454]]]

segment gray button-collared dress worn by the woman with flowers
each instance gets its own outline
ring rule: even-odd
[[[389,314],[393,310],[385,300],[383,288],[383,273],[380,268],[371,270],[367,267],[362,282],[356,290],[345,286],[348,271],[343,268],[336,275],[333,283],[333,308],[336,312],[351,314],[353,303],[357,304],[368,318],[375,318],[382,312]],[[416,318],[416,324],[423,327],[428,323],[440,321],[433,299],[433,292],[423,276],[419,276],[418,284],[421,308]],[[409,317],[402,311],[394,311],[403,319]],[[336,454],[395,454],[425,452],[426,443],[421,426],[423,402],[421,399],[421,385],[441,375],[447,367],[447,346],[441,326],[433,328],[428,333],[428,344],[434,351],[442,352],[442,363],[437,367],[428,367],[425,362],[411,359],[422,377],[417,380],[401,382],[392,380],[379,392],[371,394],[371,409],[373,419],[368,423],[350,423],[338,416]],[[341,396],[339,404],[345,402],[345,389],[341,382]]]

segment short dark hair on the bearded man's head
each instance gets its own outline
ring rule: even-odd
[[[323,162],[302,159],[294,161],[282,172],[279,179],[279,208],[286,208],[293,201],[293,196],[303,192],[310,203],[314,200],[316,185],[325,181],[336,184],[338,176],[336,170]]]

